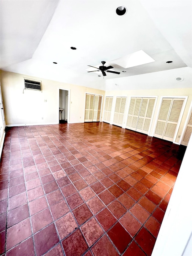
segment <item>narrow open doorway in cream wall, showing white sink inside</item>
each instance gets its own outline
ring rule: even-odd
[[[59,123],[68,121],[68,96],[68,90],[59,89]]]

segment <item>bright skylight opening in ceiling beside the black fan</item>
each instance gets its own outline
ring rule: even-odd
[[[139,65],[143,65],[146,63],[154,62],[147,53],[143,50],[137,51],[135,53],[128,54],[119,59],[112,60],[111,62],[123,67],[123,68],[131,68]]]

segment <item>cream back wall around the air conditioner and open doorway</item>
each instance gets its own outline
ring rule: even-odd
[[[42,92],[24,90],[23,93],[24,77],[41,80]],[[59,88],[70,90],[70,123],[84,122],[85,92],[105,95],[105,91],[102,90],[5,71],[1,71],[1,87],[5,122],[6,125],[13,126],[57,124],[59,122]]]

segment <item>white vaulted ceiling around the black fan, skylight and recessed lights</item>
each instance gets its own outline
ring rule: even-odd
[[[118,16],[122,5],[127,13]],[[104,89],[117,77],[191,68],[191,12],[191,0],[1,0],[1,69]],[[113,63],[140,50],[155,62]],[[87,65],[101,61],[121,73],[87,73]]]

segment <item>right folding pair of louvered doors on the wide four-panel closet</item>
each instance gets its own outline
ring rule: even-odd
[[[155,98],[143,98],[136,131],[148,134]]]

